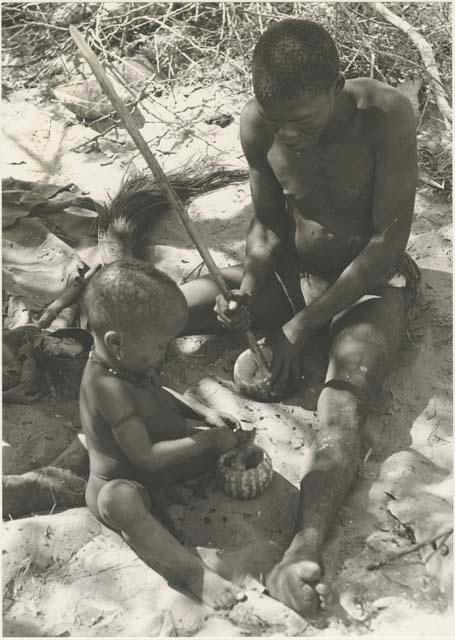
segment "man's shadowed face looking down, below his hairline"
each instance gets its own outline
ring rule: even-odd
[[[259,113],[275,133],[275,138],[296,153],[316,146],[333,113],[335,96],[303,95],[293,100],[276,102]]]

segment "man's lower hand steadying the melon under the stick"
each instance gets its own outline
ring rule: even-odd
[[[267,342],[273,354],[271,396],[281,396],[287,389],[295,389],[302,380],[303,335],[287,323]]]

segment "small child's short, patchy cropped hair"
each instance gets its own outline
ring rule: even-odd
[[[186,312],[183,293],[168,275],[134,258],[117,260],[89,280],[83,306],[92,331],[160,330],[169,314]]]

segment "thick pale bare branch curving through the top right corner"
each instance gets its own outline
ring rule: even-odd
[[[392,24],[394,27],[400,29],[400,31],[403,31],[403,33],[408,36],[408,38],[417,48],[425,65],[426,72],[433,81],[433,91],[435,94],[438,109],[446,121],[447,128],[449,128],[448,123],[452,122],[452,109],[447,101],[446,94],[443,89],[444,85],[441,81],[438,65],[436,64],[431,45],[417,31],[417,29],[409,24],[407,20],[404,20],[404,18],[400,18],[395,13],[393,13],[393,11],[390,11],[390,9],[388,9],[382,2],[371,2],[369,6],[372,7],[383,18],[385,18],[387,22],[390,22],[390,24]]]

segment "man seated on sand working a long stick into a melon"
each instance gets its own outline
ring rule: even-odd
[[[319,437],[301,482],[295,534],[267,578],[302,615],[328,600],[321,551],[359,459],[368,401],[393,363],[419,281],[405,253],[417,180],[415,120],[400,92],[345,80],[320,25],[273,24],[253,56],[253,97],[240,120],[254,215],[243,266],[182,286],[187,332],[275,328],[276,392],[301,380],[301,354],[330,327]],[[299,286],[300,285],[300,286]],[[216,307],[215,313],[213,305]]]

